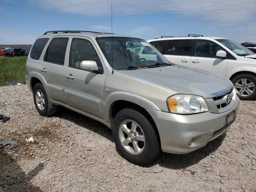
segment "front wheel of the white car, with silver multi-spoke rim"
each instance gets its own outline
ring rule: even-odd
[[[236,92],[241,100],[256,99],[256,77],[251,74],[240,74],[232,79]]]

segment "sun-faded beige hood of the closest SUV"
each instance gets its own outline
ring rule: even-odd
[[[211,98],[211,94],[233,86],[224,76],[180,65],[119,72],[167,90],[169,96],[181,93]]]

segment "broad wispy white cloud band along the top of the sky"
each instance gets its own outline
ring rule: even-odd
[[[114,14],[145,14],[162,11],[196,15],[202,19],[225,24],[253,20],[256,0],[35,0],[40,6],[62,12],[91,16]]]

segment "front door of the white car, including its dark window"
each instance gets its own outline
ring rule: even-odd
[[[223,49],[210,40],[196,40],[190,67],[225,76],[228,60],[216,57],[216,52],[220,50]]]

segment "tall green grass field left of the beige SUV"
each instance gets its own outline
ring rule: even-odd
[[[27,56],[0,57],[0,86],[25,83]]]

